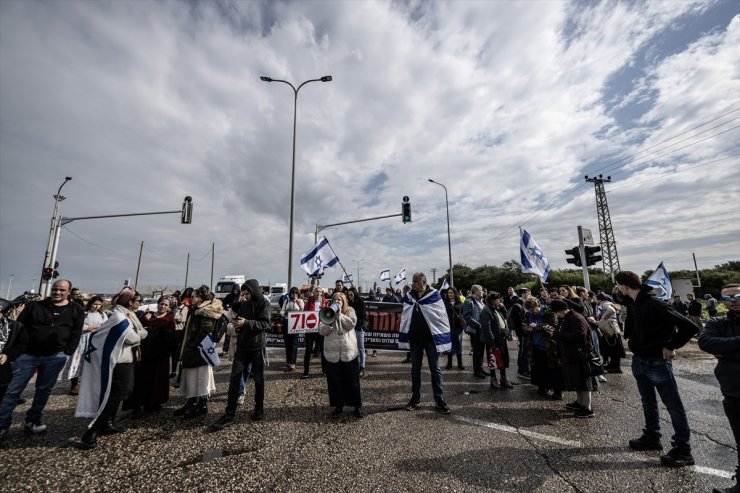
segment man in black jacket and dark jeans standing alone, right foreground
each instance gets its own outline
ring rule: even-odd
[[[622,302],[627,306],[625,337],[629,339],[633,355],[632,374],[637,381],[645,415],[643,434],[630,440],[630,447],[635,450],[663,449],[657,391],[671,416],[674,430],[673,448],[660,460],[671,467],[693,465],[689,421],[678,393],[671,360],[676,357],[676,349],[699,332],[699,327],[669,303],[658,300],[651,293],[652,288],[642,284],[634,272],[621,271],[614,281],[622,294]]]

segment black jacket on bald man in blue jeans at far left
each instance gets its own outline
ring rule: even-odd
[[[50,356],[63,352],[71,355],[82,337],[85,310],[73,302],[55,306],[50,300],[34,301],[26,305],[18,321],[28,333],[28,354]]]

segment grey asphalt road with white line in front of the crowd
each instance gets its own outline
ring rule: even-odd
[[[512,344],[515,346],[516,343]],[[694,343],[679,352],[675,372],[688,409],[697,465],[670,469],[658,452],[633,452],[642,411],[629,361],[608,375],[594,395],[596,417],[576,419],[563,409],[574,399],[543,400],[534,387],[491,391],[468,369],[445,370],[452,415],[434,412],[428,371],[422,405],[403,410],[410,397],[403,353],[368,357],[362,394],[368,416],[328,419],[326,382],[318,362],[312,378],[286,373],[283,352],[269,351],[265,420],[251,423],[252,388],[237,423],[218,433],[205,428],[225,407],[228,365],[217,371],[218,390],[202,421],[172,416],[184,399],[139,420],[124,420],[124,434],[98,439],[81,451],[70,445],[87,420],[74,418],[75,397],[60,382],[44,422],[49,430],[26,436],[18,406],[8,440],[0,446],[5,491],[260,491],[260,492],[710,492],[732,484],[736,449],[713,376],[714,359]],[[512,354],[513,356],[513,354]],[[300,359],[301,355],[299,355]],[[513,361],[513,360],[512,360]],[[228,362],[227,362],[228,363]],[[27,390],[24,397],[32,397]],[[663,444],[672,427],[662,409]]]

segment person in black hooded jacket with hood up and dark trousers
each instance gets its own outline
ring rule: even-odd
[[[259,282],[250,279],[242,284],[242,301],[232,310],[236,317],[232,323],[237,332],[236,353],[231,364],[229,397],[224,415],[210,426],[218,431],[234,424],[239,401],[239,387],[242,378],[246,383],[249,375],[254,379],[254,412],[252,421],[264,417],[265,401],[265,332],[270,329],[270,302],[262,295]]]

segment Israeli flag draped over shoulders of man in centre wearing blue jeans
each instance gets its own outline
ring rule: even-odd
[[[398,334],[399,349],[409,349],[409,330],[411,329],[411,317],[414,310],[421,310],[429,330],[437,346],[437,352],[452,349],[452,338],[450,335],[450,321],[447,318],[442,295],[436,289],[431,289],[419,300],[414,299],[409,291],[403,297],[403,311],[401,312],[401,331]]]

